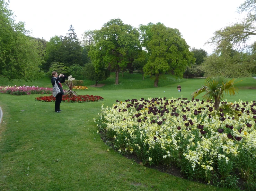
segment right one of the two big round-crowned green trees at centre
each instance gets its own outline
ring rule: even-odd
[[[159,75],[166,72],[183,77],[186,67],[194,63],[195,58],[178,29],[158,23],[152,25],[150,35],[146,43],[150,56],[143,71],[146,75],[155,75],[154,86],[158,87]]]

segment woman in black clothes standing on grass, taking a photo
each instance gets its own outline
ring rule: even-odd
[[[60,79],[60,77],[62,77],[62,79]],[[61,83],[65,82],[65,76],[63,74],[60,74],[58,77],[58,73],[53,71],[52,72],[52,87],[54,86],[55,82],[58,85],[59,89],[60,89],[60,93],[58,93],[56,95],[56,101],[55,101],[55,112],[60,113],[62,110],[60,110],[60,103],[62,101],[62,95],[64,95]]]

